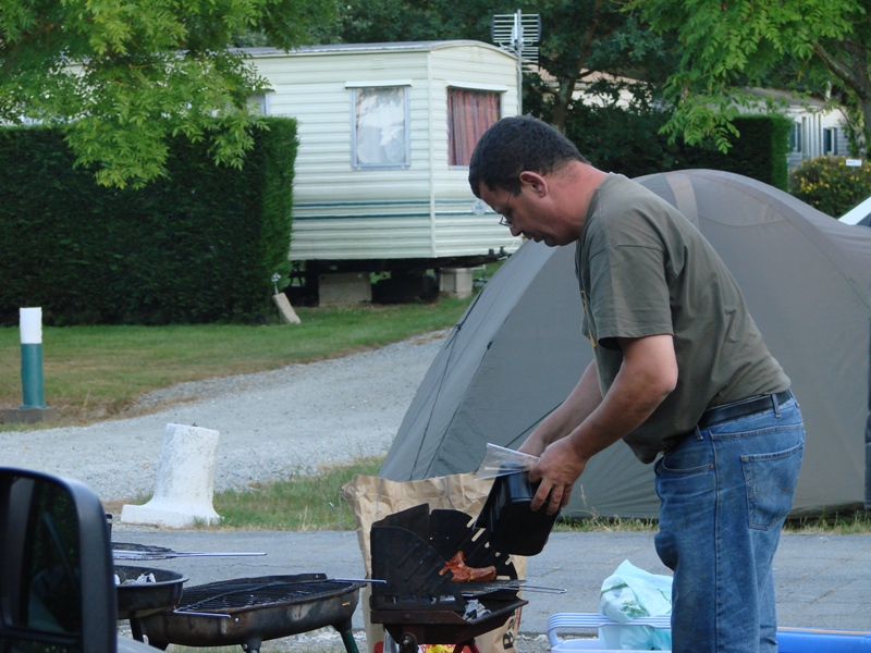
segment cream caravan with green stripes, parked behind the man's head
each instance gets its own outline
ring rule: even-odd
[[[414,295],[429,270],[452,289],[519,246],[467,181],[480,134],[517,113],[513,54],[468,40],[245,51],[271,87],[263,113],[298,121],[290,256],[321,303],[371,293],[381,271],[389,292]]]

